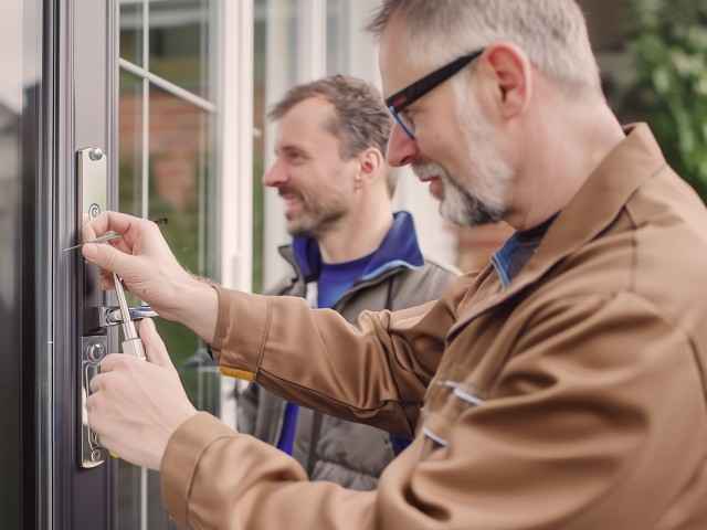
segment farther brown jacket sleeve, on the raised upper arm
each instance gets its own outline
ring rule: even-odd
[[[222,373],[254,379],[327,414],[412,435],[454,321],[452,295],[395,312],[365,311],[356,327],[300,298],[218,292],[212,347]]]

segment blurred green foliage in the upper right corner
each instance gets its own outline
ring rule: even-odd
[[[624,109],[647,120],[667,159],[707,202],[707,2],[631,0],[636,78]]]

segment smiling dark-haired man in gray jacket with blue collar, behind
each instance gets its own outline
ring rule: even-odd
[[[392,212],[395,176],[383,152],[391,118],[368,83],[335,75],[295,86],[270,118],[275,160],[263,183],[284,203],[291,265],[267,294],[299,296],[355,322],[442,296],[455,275],[425,259],[412,216]],[[253,383],[239,398],[239,431],[294,456],[313,480],[357,490],[378,477],[407,438],[300,407]]]

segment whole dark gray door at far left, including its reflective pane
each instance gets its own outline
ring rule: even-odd
[[[4,0],[0,24],[0,517],[108,528],[110,466],[78,459],[86,288],[62,250],[77,237],[75,152],[112,149],[110,3]]]

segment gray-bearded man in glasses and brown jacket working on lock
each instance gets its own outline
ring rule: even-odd
[[[225,370],[414,442],[376,491],[308,483],[196,413],[149,325],[155,363],[110,356],[94,379],[101,439],[160,469],[167,509],[196,528],[707,528],[707,212],[648,127],[609,109],[577,3],[383,0],[371,29],[398,121],[389,162],[430,182],[447,219],[517,230],[484,271],[354,328],[199,284],[136,220],[87,230],[136,255],[84,255]]]

